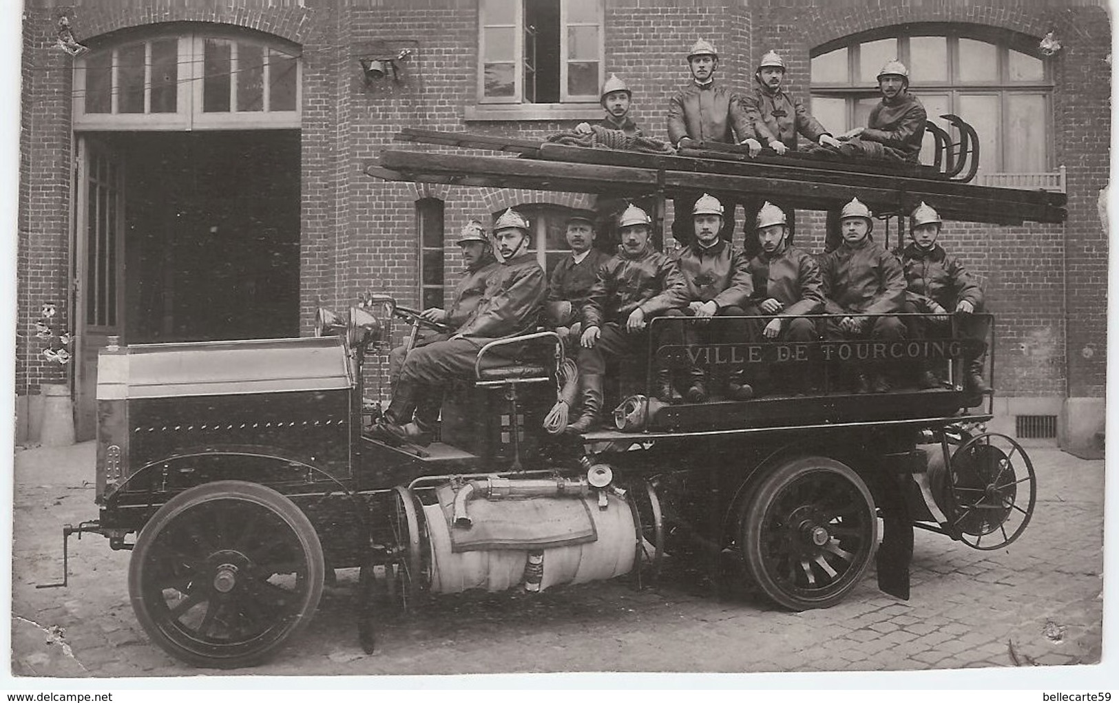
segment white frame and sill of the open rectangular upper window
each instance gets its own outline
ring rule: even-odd
[[[572,115],[564,114],[560,119],[593,119],[600,114],[599,95],[576,95],[572,96],[567,91],[568,63],[572,60],[567,47],[567,16],[568,0],[560,0],[560,102],[557,103],[535,103],[525,102],[524,87],[524,62],[525,62],[525,2],[516,0],[516,12],[510,25],[507,21],[495,22],[486,16],[486,0],[478,2],[478,60],[476,62],[476,95],[474,105],[467,107],[468,120],[509,120],[530,119],[547,120],[557,119],[555,111],[571,112]],[[599,21],[574,22],[572,26],[599,28],[599,76],[598,85],[601,86],[605,79],[605,7],[603,0],[595,0]],[[509,27],[514,29],[514,94],[511,96],[487,96],[486,95],[486,28],[487,27]],[[598,93],[598,91],[595,91]],[[593,107],[591,107],[593,105]],[[579,114],[574,114],[575,112]],[[525,118],[515,116],[516,113],[525,113]],[[552,114],[549,114],[552,113]]]

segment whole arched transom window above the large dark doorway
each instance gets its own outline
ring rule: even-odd
[[[74,129],[295,129],[300,72],[298,46],[257,32],[132,35],[74,62]]]

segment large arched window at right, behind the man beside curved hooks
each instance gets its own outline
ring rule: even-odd
[[[1051,68],[1036,40],[1013,32],[909,25],[817,47],[812,114],[836,133],[865,125],[881,100],[878,69],[895,57],[909,67],[910,91],[931,120],[947,129],[939,115],[951,113],[976,128],[980,181],[1052,170]],[[923,162],[932,160],[931,147],[927,137]]]

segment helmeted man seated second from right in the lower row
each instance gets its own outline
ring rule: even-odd
[[[874,219],[858,198],[845,205],[839,217],[843,243],[820,259],[820,272],[825,312],[845,317],[838,321],[828,319],[826,336],[829,339],[904,339],[905,326],[890,315],[901,312],[905,304],[905,275],[901,263],[871,238]],[[857,364],[855,392],[888,393],[893,385],[890,376],[881,365]]]

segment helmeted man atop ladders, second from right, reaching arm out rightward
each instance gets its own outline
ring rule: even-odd
[[[821,147],[839,147],[839,140],[824,129],[799,97],[781,87],[784,60],[767,51],[754,72],[754,90],[742,99],[742,109],[753,128],[753,137],[778,154],[797,151],[797,134]]]

